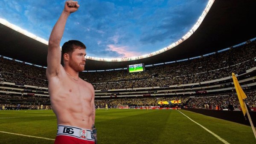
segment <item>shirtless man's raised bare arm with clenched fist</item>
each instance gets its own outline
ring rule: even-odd
[[[77,1],[66,1],[64,10],[61,13],[58,21],[52,29],[52,33],[49,38],[48,44],[48,55],[47,55],[47,77],[48,76],[57,76],[59,69],[61,67],[61,49],[60,43],[61,38],[64,33],[65,25],[67,22],[67,17],[76,12],[79,8],[79,4]]]

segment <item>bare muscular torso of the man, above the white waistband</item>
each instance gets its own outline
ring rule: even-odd
[[[48,79],[52,109],[58,124],[91,130],[93,125],[93,86],[68,75],[64,68],[58,76]]]

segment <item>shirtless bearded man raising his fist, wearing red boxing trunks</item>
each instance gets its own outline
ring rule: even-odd
[[[96,143],[94,89],[79,78],[84,70],[85,45],[70,40],[60,49],[68,16],[76,12],[79,4],[66,1],[64,10],[52,29],[49,38],[46,75],[52,109],[58,123],[55,144]],[[61,65],[61,57],[64,66]]]

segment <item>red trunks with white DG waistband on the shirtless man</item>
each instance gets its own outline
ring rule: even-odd
[[[58,125],[54,144],[95,144],[95,141],[92,130]]]

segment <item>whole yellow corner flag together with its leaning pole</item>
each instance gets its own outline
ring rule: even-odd
[[[238,96],[238,99],[239,99],[239,102],[240,102],[240,105],[241,105],[241,109],[243,111],[243,114],[245,116],[245,112],[247,113],[247,116],[248,116],[248,119],[250,121],[250,125],[253,129],[253,134],[254,134],[254,137],[256,139],[256,131],[255,131],[255,128],[253,126],[253,122],[252,122],[252,119],[250,118],[250,114],[249,114],[249,111],[246,107],[246,104],[244,102],[244,99],[247,98],[247,96],[245,95],[243,89],[241,88],[241,86],[239,85],[239,82],[236,78],[236,75],[234,73],[232,73],[232,78],[233,78],[233,82],[234,82],[234,85],[235,85],[235,89],[236,89],[236,94]]]

